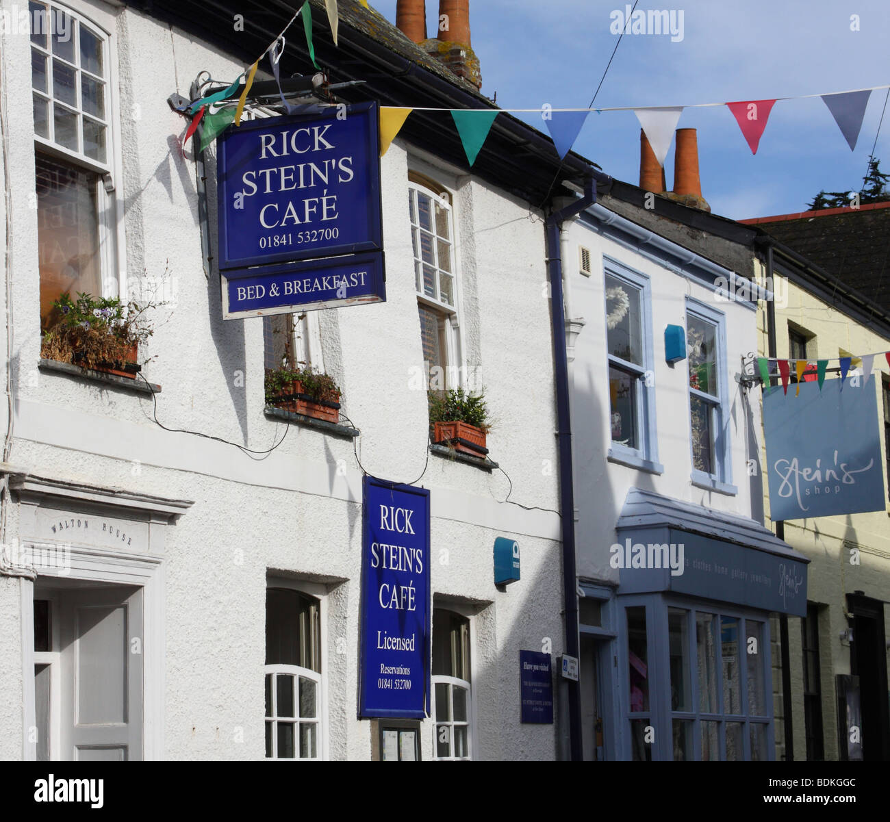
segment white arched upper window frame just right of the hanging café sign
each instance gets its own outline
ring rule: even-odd
[[[432,167],[427,168],[425,166],[417,164],[412,164],[409,166],[409,173],[415,173],[419,176],[425,177],[431,183],[436,182],[437,178],[441,178],[442,176],[442,173],[439,169],[435,169]],[[417,296],[418,304],[425,306],[426,308],[435,310],[439,312],[440,315],[443,315],[440,319],[440,331],[443,333],[442,335],[445,342],[445,351],[443,351],[443,354],[445,356],[444,387],[446,389],[455,389],[458,387],[470,388],[472,386],[469,385],[468,377],[465,374],[466,369],[464,367],[464,332],[461,323],[461,271],[460,262],[457,254],[457,225],[460,221],[457,203],[455,202],[455,196],[453,193],[456,189],[456,186],[452,182],[441,183],[441,191],[436,192],[435,189],[431,188],[429,185],[425,185],[423,182],[417,182],[415,180],[409,179],[408,189],[410,197],[416,198],[417,192],[420,192],[425,197],[429,197],[430,199],[432,199],[433,203],[445,209],[449,215],[449,232],[451,235],[449,238],[449,243],[451,246],[451,276],[454,305],[449,305],[448,302],[443,302],[441,299],[439,299],[441,291],[440,294],[436,295],[435,299],[425,294],[423,291],[423,275],[421,275],[421,288],[419,290],[417,289],[416,266],[412,271],[412,278],[414,278],[415,282],[415,294]],[[416,199],[415,202],[417,202]],[[413,236],[415,225],[410,220],[410,213],[408,222],[409,232]],[[414,256],[413,238],[411,238],[409,242],[409,248],[411,249],[412,265],[414,265],[414,263],[417,262],[417,258]],[[437,248],[436,254],[438,255],[438,253],[439,252]],[[436,268],[437,270],[439,269],[438,265]],[[432,367],[432,364],[430,364],[430,367]]]

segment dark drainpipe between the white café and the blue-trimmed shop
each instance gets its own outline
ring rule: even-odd
[[[605,174],[595,172],[597,179],[610,181]],[[571,465],[571,421],[569,414],[569,362],[565,345],[565,304],[562,298],[562,256],[560,228],[562,222],[594,205],[596,180],[585,183],[584,197],[580,197],[562,211],[554,212],[546,221],[547,275],[550,278],[550,319],[554,332],[554,366],[556,374],[556,417],[559,438],[560,515],[562,518],[562,599],[565,609],[565,652],[579,657],[578,642],[578,579],[575,568],[575,491]],[[569,749],[572,762],[583,758],[581,747],[581,690],[579,683],[566,680],[569,685]]]

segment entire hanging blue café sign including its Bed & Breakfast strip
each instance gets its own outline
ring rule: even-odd
[[[231,125],[217,197],[225,318],[384,302],[376,103]]]

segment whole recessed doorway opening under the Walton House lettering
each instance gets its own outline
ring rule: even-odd
[[[38,761],[142,760],[142,621],[142,587],[35,585]]]

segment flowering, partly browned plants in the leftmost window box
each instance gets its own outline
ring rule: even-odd
[[[95,298],[66,292],[53,302],[51,324],[40,344],[40,356],[135,379],[142,370],[139,347],[154,330],[147,311],[151,302],[123,303],[118,297]]]

